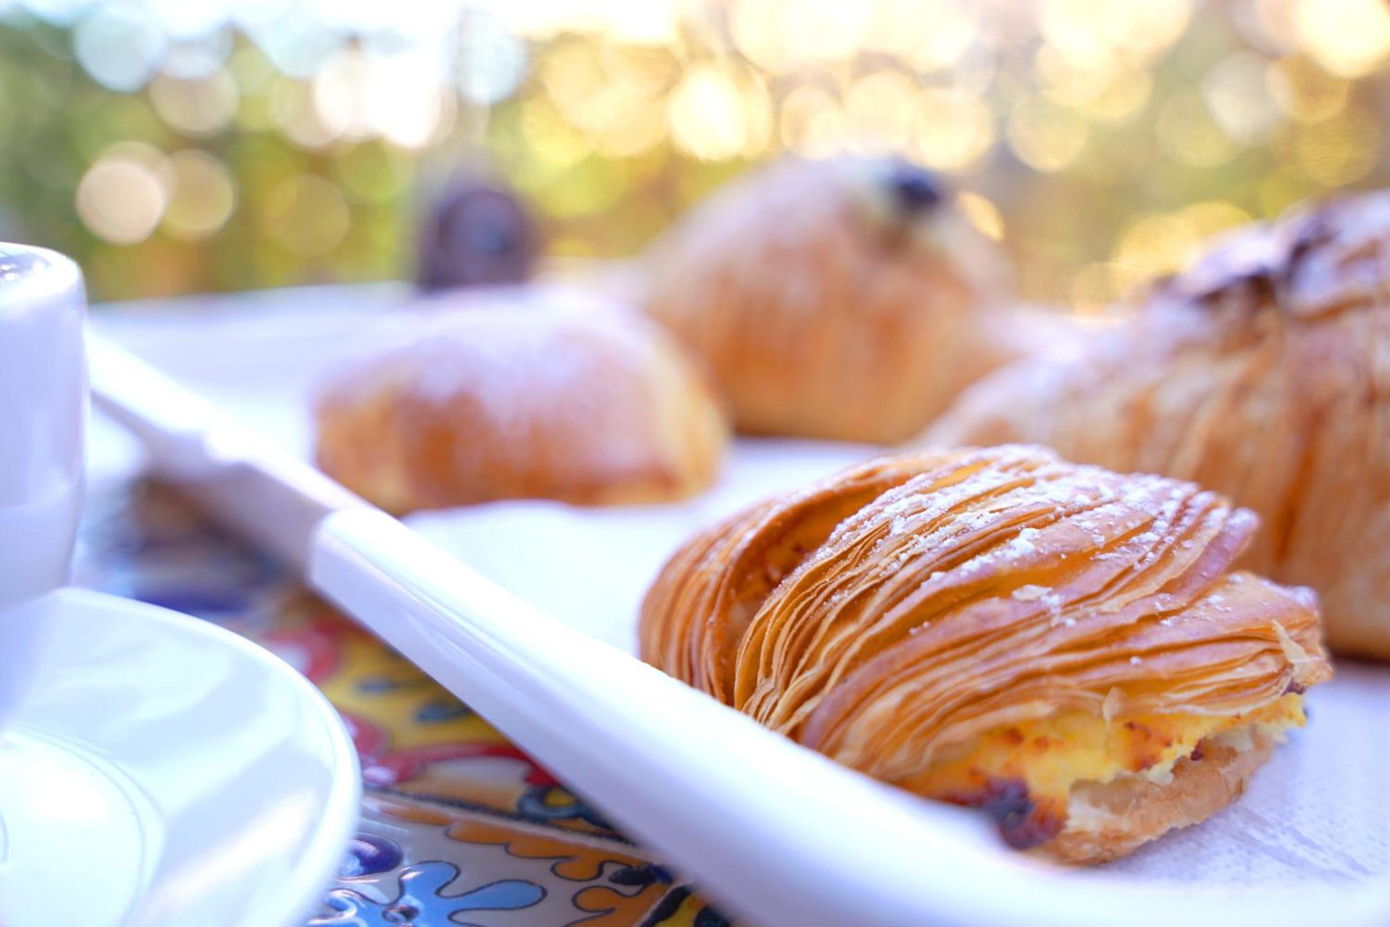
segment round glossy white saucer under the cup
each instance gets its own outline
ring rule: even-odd
[[[336,713],[278,657],[165,608],[64,589],[0,732],[0,924],[302,924],[357,820]]]

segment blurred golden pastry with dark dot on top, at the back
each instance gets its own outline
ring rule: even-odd
[[[1015,352],[991,242],[897,159],[738,180],[653,246],[648,276],[646,310],[748,433],[901,441]]]

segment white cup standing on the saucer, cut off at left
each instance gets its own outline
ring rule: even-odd
[[[82,509],[86,295],[56,252],[0,244],[0,725],[38,647],[19,612],[68,580]],[[10,618],[10,621],[7,621]]]

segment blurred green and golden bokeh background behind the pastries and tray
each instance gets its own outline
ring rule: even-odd
[[[101,299],[410,276],[464,171],[632,255],[791,150],[947,175],[1033,301],[1390,178],[1384,0],[0,4],[0,238]]]

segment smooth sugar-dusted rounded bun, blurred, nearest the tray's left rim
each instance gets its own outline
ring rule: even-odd
[[[407,335],[339,372],[316,409],[325,473],[392,512],[710,484],[728,425],[664,331],[545,291],[485,302],[402,316]]]

